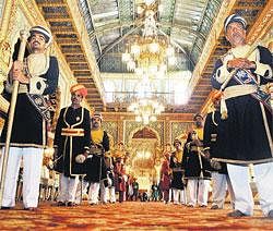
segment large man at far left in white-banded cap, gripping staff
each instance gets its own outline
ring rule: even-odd
[[[38,102],[44,96],[54,94],[59,80],[59,65],[56,57],[46,53],[52,36],[49,29],[34,26],[29,29],[28,47],[31,53],[24,60],[14,61],[5,84],[4,94],[10,98],[12,82],[19,81],[19,93],[10,142],[2,209],[15,206],[16,180],[23,158],[23,204],[27,210],[36,210],[39,195],[39,181],[44,148],[47,145],[46,126],[50,120]],[[13,58],[16,56],[14,54]],[[44,105],[43,105],[44,107]],[[0,145],[7,139],[5,120]],[[3,151],[4,153],[4,151]]]

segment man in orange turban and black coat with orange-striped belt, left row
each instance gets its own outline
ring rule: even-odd
[[[55,133],[56,171],[60,172],[58,206],[74,206],[79,175],[85,173],[90,153],[90,112],[81,106],[87,89],[75,84],[70,88],[71,106],[62,108]]]

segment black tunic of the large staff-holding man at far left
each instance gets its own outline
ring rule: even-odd
[[[50,57],[49,69],[46,74],[40,75],[45,78],[46,88],[43,95],[55,93],[58,78],[59,68],[56,57]],[[23,84],[20,84],[20,88]],[[28,85],[25,87],[28,89]],[[4,93],[10,98],[9,93]],[[4,145],[7,139],[8,120],[5,120],[2,135],[1,145]],[[27,96],[27,92],[17,94],[17,100],[15,106],[15,113],[12,126],[11,143],[10,146],[15,147],[46,147],[47,145],[47,132],[46,122],[41,114],[34,107]]]

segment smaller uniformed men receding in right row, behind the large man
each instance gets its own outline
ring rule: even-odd
[[[212,167],[202,154],[203,117],[197,114],[194,121],[194,129],[188,133],[183,146],[177,138],[174,151],[170,144],[166,145],[159,185],[165,203],[170,200],[171,190],[174,204],[206,207]]]

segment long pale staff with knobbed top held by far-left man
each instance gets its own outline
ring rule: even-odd
[[[28,36],[29,36],[29,33],[27,31],[22,29],[20,32],[21,44],[20,44],[17,60],[22,62],[24,60],[24,52],[25,52],[25,47],[26,47],[26,41],[27,41]],[[2,205],[4,179],[5,179],[7,165],[8,165],[8,159],[9,159],[11,133],[12,133],[12,125],[13,125],[15,106],[16,106],[16,100],[17,100],[19,84],[20,84],[19,81],[13,81],[11,104],[10,104],[10,111],[9,111],[9,119],[8,119],[7,139],[4,144],[4,154],[2,156],[2,161],[1,161],[0,207]]]

